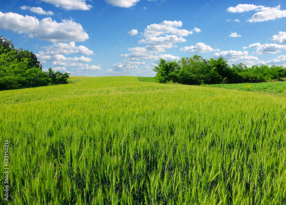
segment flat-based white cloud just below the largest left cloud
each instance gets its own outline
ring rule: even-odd
[[[45,51],[39,51],[41,55],[55,55],[55,54],[83,54],[83,55],[92,55],[93,51],[88,49],[85,46],[76,46],[75,42],[70,43],[54,43],[53,45],[43,46],[42,49]]]

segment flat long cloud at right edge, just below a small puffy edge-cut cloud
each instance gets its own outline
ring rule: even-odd
[[[281,50],[283,49],[286,49],[286,45],[278,45],[276,43],[265,43],[265,44],[253,43],[248,47],[243,47],[243,49],[248,49],[248,48],[256,48],[255,52],[256,55],[274,54],[281,52]]]

